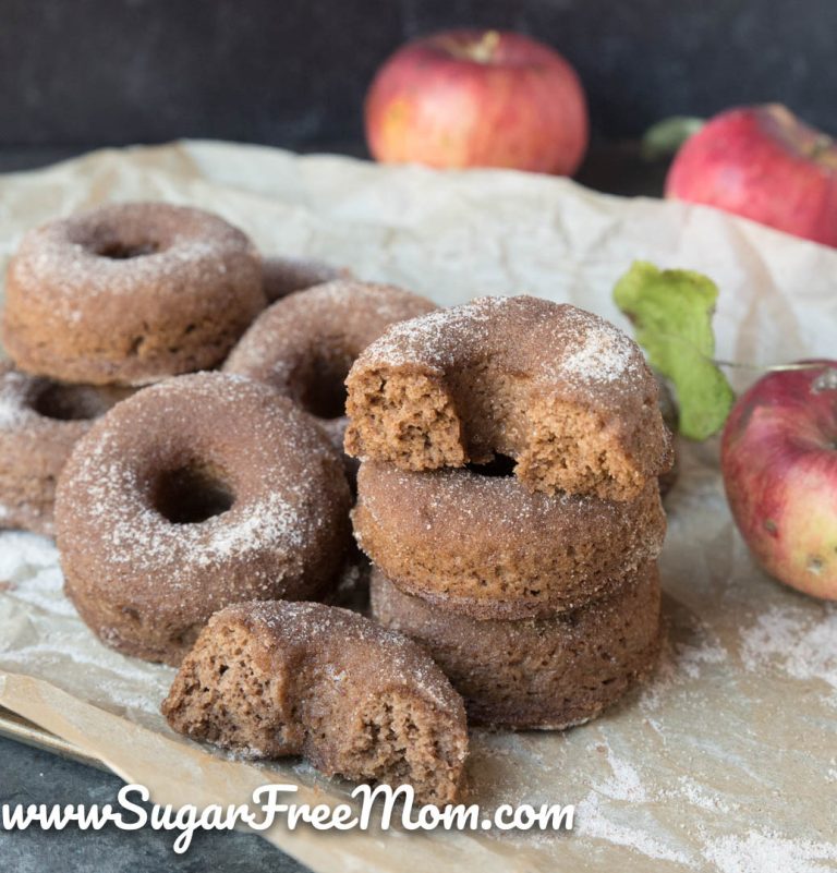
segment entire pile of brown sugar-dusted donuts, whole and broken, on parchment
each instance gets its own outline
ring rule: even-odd
[[[102,642],[181,667],[177,730],[448,802],[462,699],[560,728],[651,669],[670,439],[602,319],[437,310],[147,203],[29,232],[5,296],[0,524],[54,531]],[[353,486],[378,626],[293,603],[333,598]]]

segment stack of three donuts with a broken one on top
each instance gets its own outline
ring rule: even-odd
[[[430,651],[472,722],[577,725],[651,670],[671,446],[632,340],[483,298],[391,327],[347,385],[373,615]]]

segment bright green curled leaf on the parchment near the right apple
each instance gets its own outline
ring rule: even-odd
[[[706,439],[720,431],[736,399],[718,368],[712,316],[718,289],[692,270],[638,260],[616,283],[616,305],[631,319],[651,365],[675,387],[680,433]]]

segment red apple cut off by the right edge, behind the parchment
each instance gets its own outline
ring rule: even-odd
[[[837,144],[778,104],[730,109],[682,145],[666,196],[837,245]]]

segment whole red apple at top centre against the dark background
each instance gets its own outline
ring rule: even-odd
[[[570,174],[587,145],[578,75],[514,33],[449,31],[399,49],[366,96],[366,141],[386,162]]]

